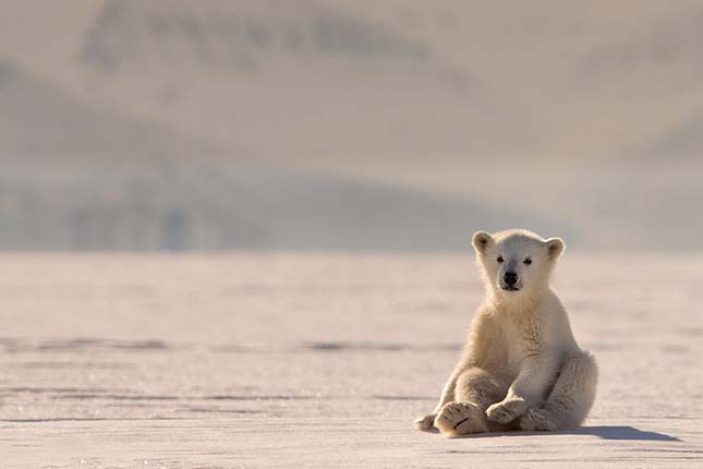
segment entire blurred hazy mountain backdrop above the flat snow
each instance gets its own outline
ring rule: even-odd
[[[701,246],[700,2],[8,7],[7,248]]]

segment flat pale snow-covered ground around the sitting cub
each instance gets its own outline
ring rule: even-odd
[[[447,440],[468,255],[4,255],[0,466],[699,468],[702,261],[567,252],[586,426]]]

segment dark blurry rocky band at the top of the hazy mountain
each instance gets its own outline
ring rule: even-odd
[[[251,71],[282,57],[421,61],[431,55],[426,44],[324,5],[305,0],[109,0],[90,26],[83,60],[105,71],[189,61]]]

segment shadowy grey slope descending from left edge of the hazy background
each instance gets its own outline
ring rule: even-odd
[[[214,147],[153,122],[86,105],[60,87],[0,62],[0,153],[4,161],[112,161],[198,157]]]

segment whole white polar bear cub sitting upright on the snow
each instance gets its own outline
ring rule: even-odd
[[[597,368],[549,287],[563,241],[507,230],[478,231],[472,243],[486,297],[439,404],[415,424],[447,436],[578,428],[595,398]]]

